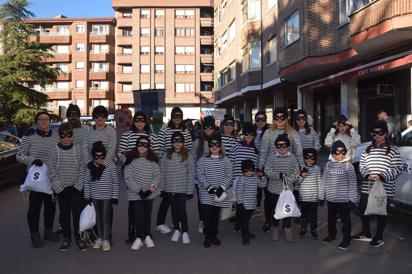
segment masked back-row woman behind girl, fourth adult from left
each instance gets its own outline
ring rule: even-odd
[[[157,153],[159,157],[161,156],[159,141],[156,134],[150,130],[149,124],[147,124],[146,114],[143,111],[136,111],[133,115],[133,124],[130,130],[122,135],[117,148],[117,159],[124,165],[131,163],[132,160],[126,157],[126,153],[136,147],[136,140],[140,136],[148,136],[150,138],[150,149]],[[133,203],[129,201],[129,232],[126,237],[126,243],[132,243],[136,239],[134,215]]]

